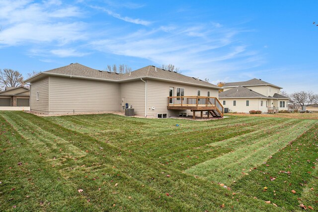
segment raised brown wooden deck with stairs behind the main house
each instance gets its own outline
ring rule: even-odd
[[[208,118],[210,115],[215,118],[222,118],[224,108],[216,97],[210,96],[169,96],[168,110],[191,110],[193,112],[193,119],[195,119],[195,112],[208,111]]]

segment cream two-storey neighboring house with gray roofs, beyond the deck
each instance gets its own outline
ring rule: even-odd
[[[260,110],[268,113],[288,110],[289,98],[280,95],[282,88],[261,79],[225,83],[223,89],[219,99],[229,112],[248,113],[250,110]]]

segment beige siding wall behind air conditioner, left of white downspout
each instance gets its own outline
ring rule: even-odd
[[[120,101],[132,105],[137,116],[145,116],[145,84],[141,79],[120,83]]]

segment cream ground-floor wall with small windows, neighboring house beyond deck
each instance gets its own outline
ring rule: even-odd
[[[231,99],[222,99],[220,102],[226,101],[226,105],[223,105],[225,108],[229,108],[229,112],[238,112],[238,113],[248,113],[250,110],[260,110],[263,113],[267,113],[266,100],[260,98],[231,98]],[[236,100],[236,106],[233,106],[233,101]],[[249,106],[246,106],[246,100],[249,101]],[[261,106],[261,100],[263,101],[263,106]],[[267,100],[268,101],[268,100]]]

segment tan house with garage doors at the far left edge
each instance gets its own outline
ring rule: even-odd
[[[0,107],[16,107],[30,105],[30,90],[23,86],[20,87],[5,87],[5,90],[0,91]]]

